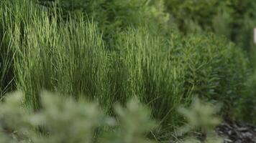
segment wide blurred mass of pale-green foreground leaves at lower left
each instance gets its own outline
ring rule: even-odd
[[[155,127],[150,112],[136,99],[117,106],[117,117],[107,117],[95,103],[43,92],[42,109],[36,113],[22,107],[16,92],[0,104],[1,141],[4,142],[151,142],[147,132]],[[99,129],[104,129],[98,132]],[[113,129],[114,128],[114,129]],[[104,136],[101,136],[103,134]]]

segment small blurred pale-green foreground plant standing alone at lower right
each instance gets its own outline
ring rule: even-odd
[[[200,99],[195,98],[193,99],[191,107],[180,107],[178,112],[180,112],[188,122],[179,129],[181,134],[193,131],[199,131],[201,134],[204,134],[204,137],[201,139],[186,137],[183,143],[199,143],[201,141],[205,143],[224,142],[214,131],[215,127],[221,123],[221,120],[217,117],[219,106],[214,106],[213,104],[202,102]]]

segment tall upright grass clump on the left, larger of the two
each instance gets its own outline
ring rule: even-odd
[[[93,99],[104,97],[107,54],[96,26],[83,19],[62,21],[58,16],[49,16],[47,11],[40,13],[40,7],[32,2],[24,3],[27,5],[24,14],[31,11],[32,15],[9,19],[14,26],[6,31],[15,52],[17,88],[26,93],[27,104],[38,109],[37,94],[42,89],[86,94]],[[18,8],[13,10],[14,15],[23,4],[15,5]],[[7,10],[5,14],[13,16]]]

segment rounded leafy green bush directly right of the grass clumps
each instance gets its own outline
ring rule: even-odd
[[[186,39],[187,49],[181,49],[188,56],[183,61],[188,70],[187,84],[196,94],[232,107],[233,103],[229,101],[237,100],[248,74],[248,60],[243,51],[226,39],[211,34],[207,38],[189,37]]]

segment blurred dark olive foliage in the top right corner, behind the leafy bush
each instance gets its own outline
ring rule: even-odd
[[[248,51],[253,44],[255,1],[165,0],[174,23],[184,33],[213,31]]]

